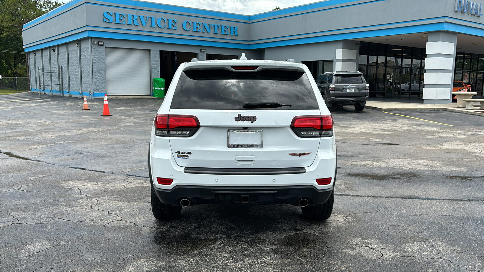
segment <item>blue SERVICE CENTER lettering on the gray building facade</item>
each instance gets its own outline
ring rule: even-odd
[[[160,29],[177,30],[180,29],[176,19],[124,14],[106,11],[103,13],[103,22],[120,25],[151,27]],[[207,32],[221,35],[239,36],[238,28],[234,26],[210,24],[204,22],[183,21],[181,29],[192,32]]]

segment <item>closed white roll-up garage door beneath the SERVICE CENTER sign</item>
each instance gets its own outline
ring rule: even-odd
[[[108,95],[150,95],[150,50],[106,47]]]

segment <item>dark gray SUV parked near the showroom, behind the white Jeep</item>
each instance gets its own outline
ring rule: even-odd
[[[354,105],[356,111],[362,111],[369,97],[369,85],[358,71],[327,72],[316,83],[328,107]]]

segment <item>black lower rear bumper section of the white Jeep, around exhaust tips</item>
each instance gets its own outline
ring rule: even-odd
[[[159,189],[151,184],[156,196],[163,203],[181,206],[181,199],[189,199],[196,204],[291,204],[298,206],[302,198],[308,200],[308,206],[326,203],[333,192],[333,187],[318,190],[311,185],[300,186],[188,186],[177,185],[172,189]]]

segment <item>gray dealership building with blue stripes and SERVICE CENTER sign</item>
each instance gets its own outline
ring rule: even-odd
[[[287,60],[318,81],[363,72],[370,97],[450,103],[482,95],[484,0],[326,0],[237,15],[134,0],[73,0],[24,25],[30,88],[62,96],[151,95],[198,60]]]

